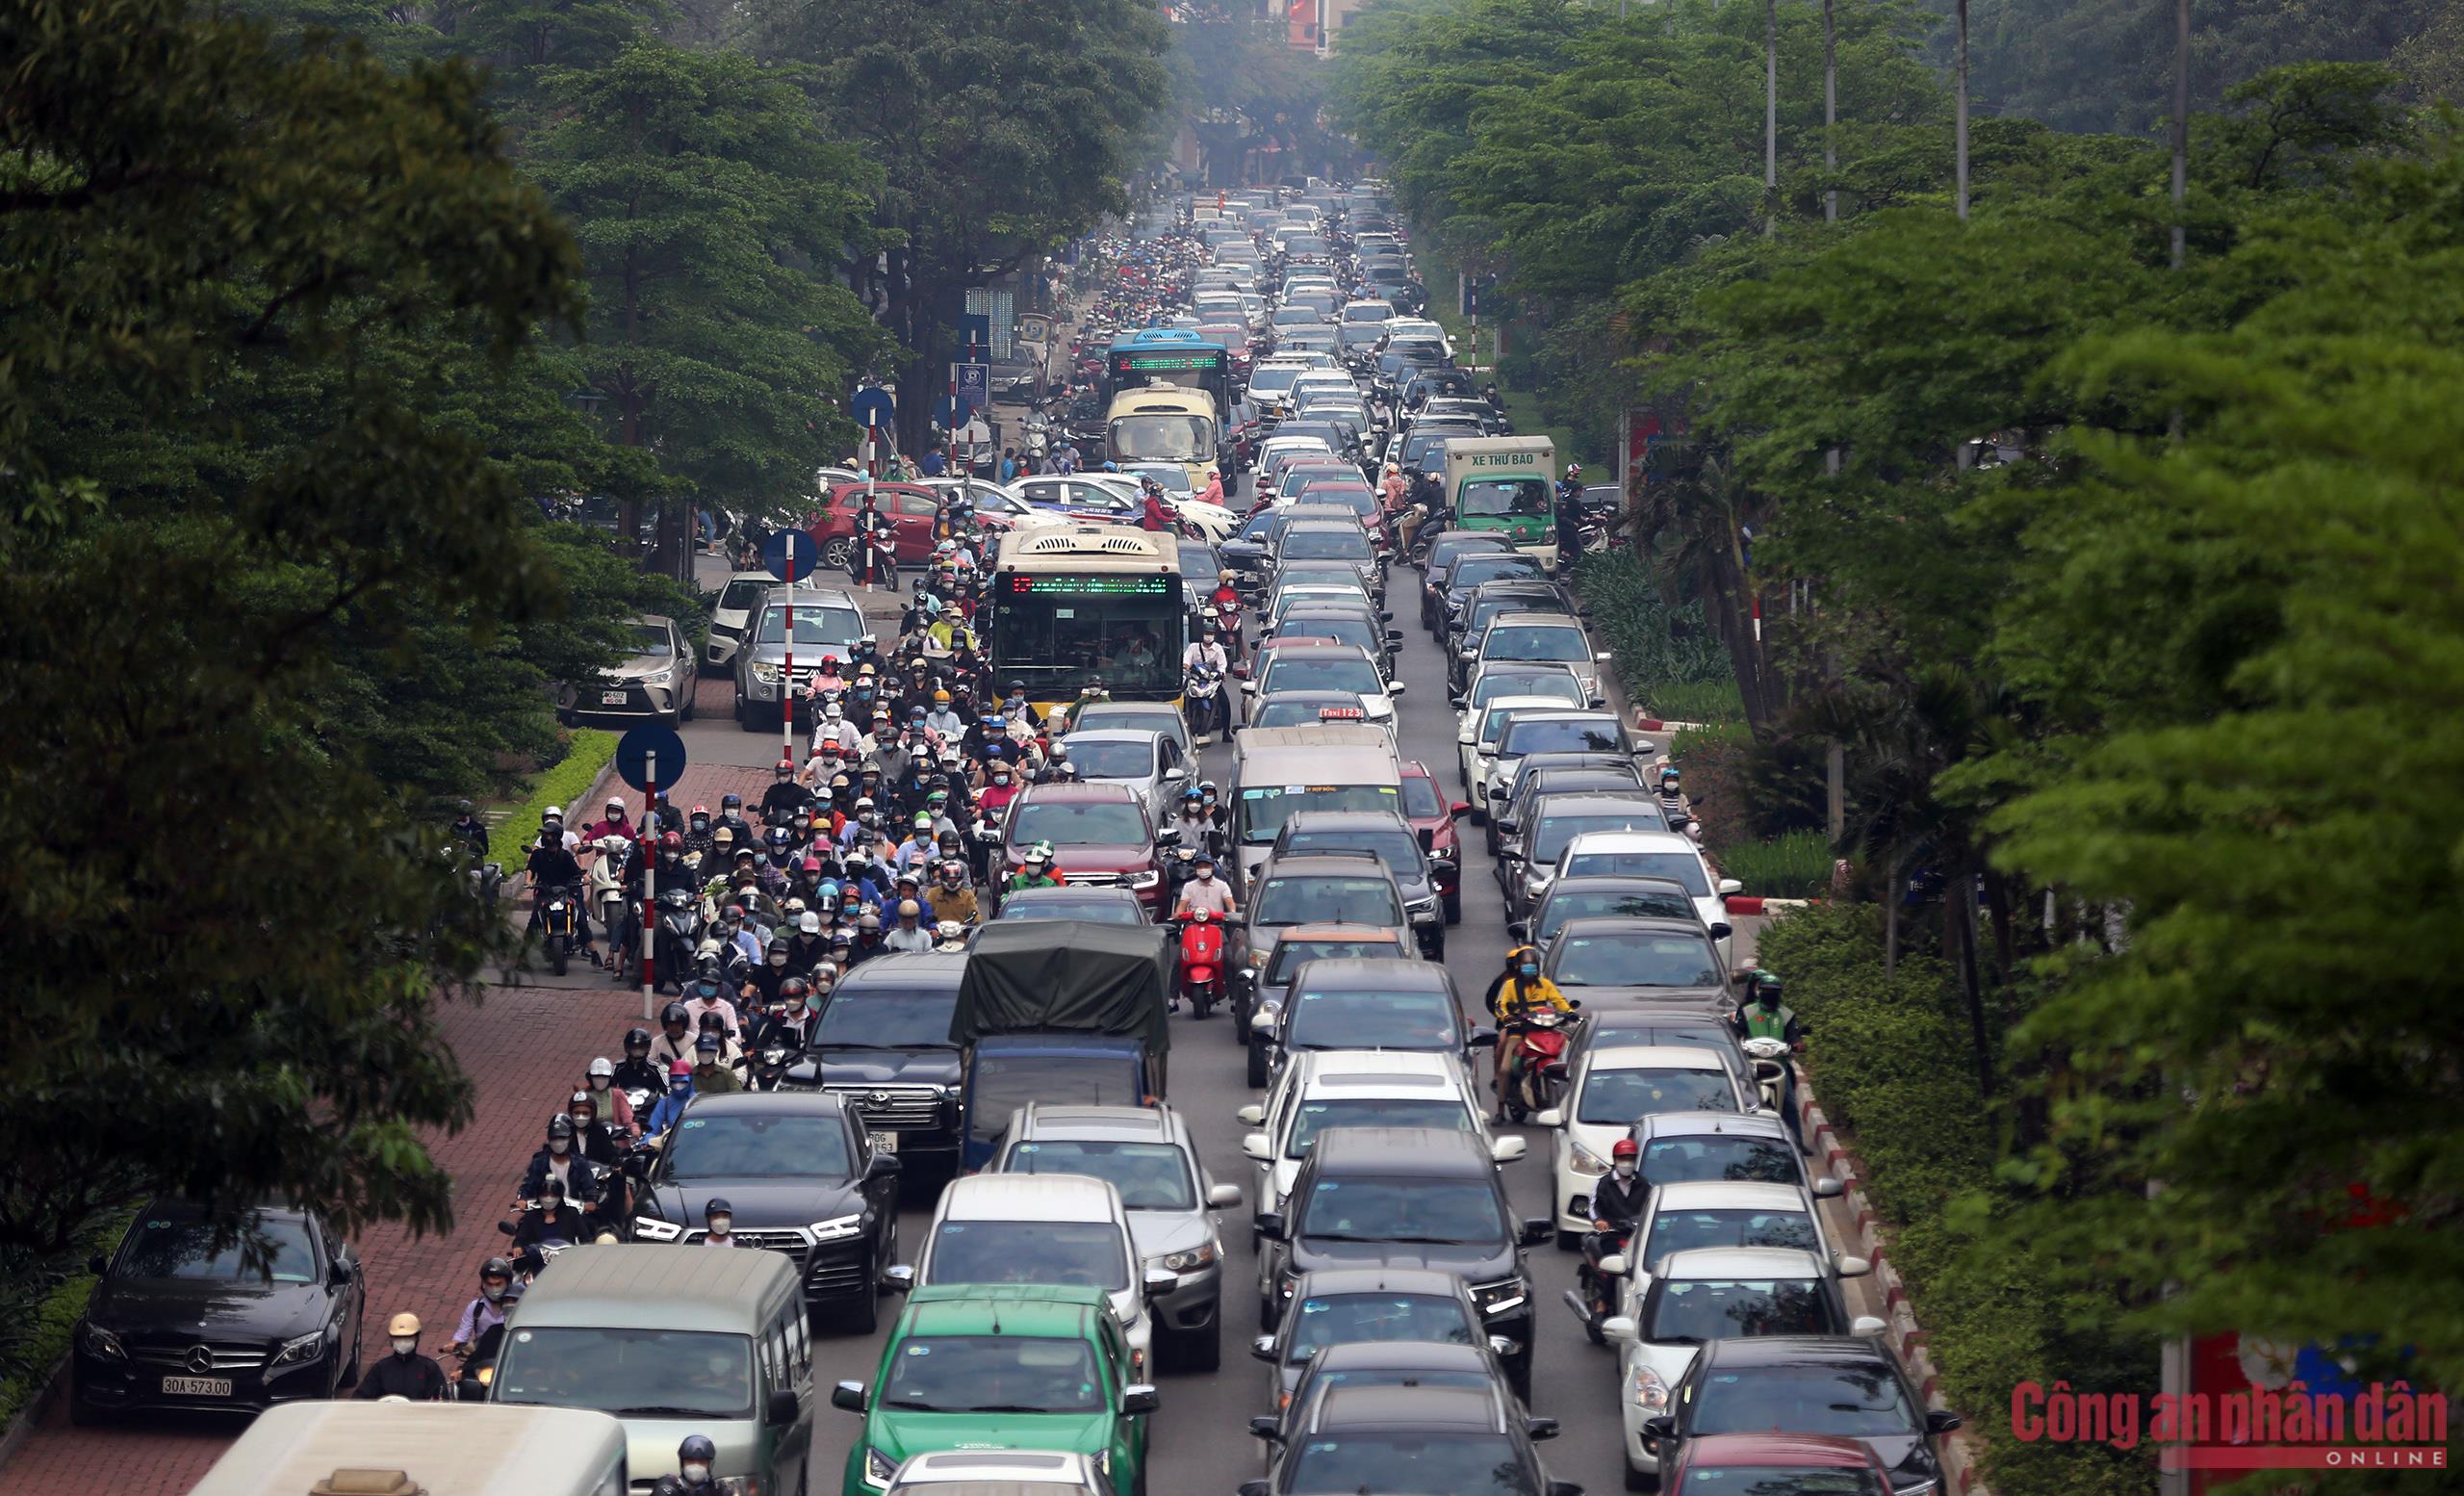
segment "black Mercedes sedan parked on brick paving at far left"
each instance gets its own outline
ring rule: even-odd
[[[360,1380],[360,1259],[313,1213],[259,1208],[217,1230],[195,1205],[155,1200],[94,1272],[71,1351],[74,1422],[254,1412]]]

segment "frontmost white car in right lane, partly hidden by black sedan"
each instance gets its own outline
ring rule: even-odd
[[[1609,1257],[1604,1267],[1619,1264]],[[1700,1247],[1671,1252],[1639,1289],[1639,1311],[1609,1316],[1599,1333],[1616,1351],[1616,1415],[1626,1434],[1626,1484],[1658,1484],[1643,1422],[1668,1400],[1710,1341],[1740,1336],[1880,1336],[1870,1314],[1848,1316],[1841,1277],[1870,1272],[1863,1257],[1831,1262],[1789,1247]],[[1641,1476],[1641,1481],[1636,1479]]]

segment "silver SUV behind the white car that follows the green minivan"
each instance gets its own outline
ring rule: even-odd
[[[1089,1173],[1129,1210],[1141,1272],[1180,1284],[1151,1301],[1156,1360],[1215,1370],[1222,1360],[1222,1220],[1239,1185],[1207,1181],[1190,1126],[1170,1107],[1072,1107],[1030,1102],[1010,1114],[993,1173]]]

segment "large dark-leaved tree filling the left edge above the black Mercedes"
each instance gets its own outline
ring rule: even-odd
[[[360,352],[513,370],[579,256],[468,67],[180,0],[5,0],[0,47],[0,1254],[155,1190],[439,1227],[434,1003],[493,922],[318,693],[342,619],[404,648],[562,589],[517,481]]]

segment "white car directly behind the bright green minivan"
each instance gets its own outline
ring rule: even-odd
[[[973,1173],[941,1190],[914,1267],[890,1267],[882,1282],[907,1291],[934,1284],[1064,1284],[1104,1289],[1129,1341],[1126,1380],[1148,1380],[1153,1294],[1180,1287],[1170,1272],[1143,1272],[1121,1190],[1084,1173]]]

